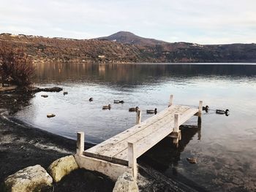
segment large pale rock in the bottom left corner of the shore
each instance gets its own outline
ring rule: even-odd
[[[40,165],[26,167],[4,180],[5,190],[12,192],[42,191],[52,185],[52,177]]]

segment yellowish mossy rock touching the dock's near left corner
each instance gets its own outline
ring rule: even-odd
[[[69,155],[53,161],[53,163],[48,167],[48,172],[55,182],[59,182],[62,177],[78,168],[79,167],[74,156]]]

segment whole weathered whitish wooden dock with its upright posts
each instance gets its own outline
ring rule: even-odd
[[[138,110],[135,126],[85,151],[84,134],[78,132],[75,155],[78,166],[102,172],[113,180],[117,180],[124,172],[130,172],[136,178],[137,158],[165,137],[173,137],[173,142],[178,144],[178,140],[181,139],[179,126],[194,115],[198,116],[200,123],[202,106],[202,101],[197,109],[174,105],[171,95],[169,107],[162,112],[140,122],[141,112]]]

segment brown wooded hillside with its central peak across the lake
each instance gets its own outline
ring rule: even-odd
[[[23,47],[37,62],[97,63],[233,63],[256,62],[256,45],[198,45],[162,42],[118,32],[99,39],[48,38],[0,34],[1,42]]]

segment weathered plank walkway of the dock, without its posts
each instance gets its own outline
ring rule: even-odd
[[[179,123],[179,125],[181,125],[197,112],[198,109],[172,105],[162,112],[159,112],[159,114],[148,118],[148,120],[143,123],[133,126],[99,145],[91,147],[83,154],[126,165],[128,162],[127,142],[129,140],[136,142],[136,146],[138,146],[138,158],[173,131],[175,113],[181,115]]]

